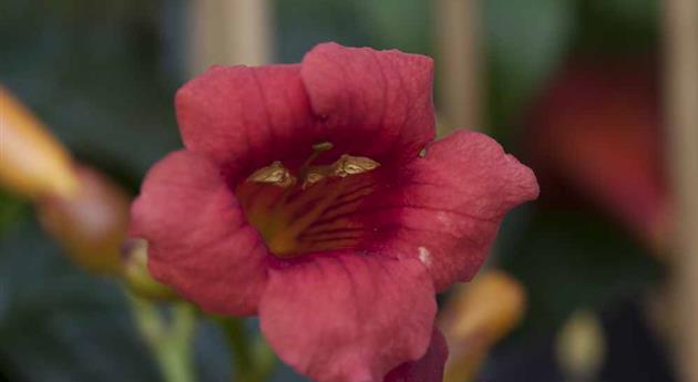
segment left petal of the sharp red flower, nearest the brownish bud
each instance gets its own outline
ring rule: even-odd
[[[268,252],[217,167],[179,151],[147,174],[131,209],[131,234],[148,241],[148,268],[204,310],[256,312]]]

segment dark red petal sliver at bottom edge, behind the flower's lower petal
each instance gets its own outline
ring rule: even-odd
[[[443,334],[434,328],[427,354],[415,362],[407,362],[392,370],[384,382],[442,382],[449,347]]]

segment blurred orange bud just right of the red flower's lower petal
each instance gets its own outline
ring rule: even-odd
[[[472,379],[490,348],[521,321],[524,310],[523,286],[503,271],[485,271],[459,286],[439,318],[450,351],[444,381]]]

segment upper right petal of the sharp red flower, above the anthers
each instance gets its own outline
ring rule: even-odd
[[[428,56],[324,43],[306,54],[300,75],[314,112],[347,153],[382,163],[389,149],[417,156],[434,137]]]

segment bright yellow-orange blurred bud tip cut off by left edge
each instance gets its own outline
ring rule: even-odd
[[[78,188],[70,154],[31,112],[0,86],[0,184],[28,197],[68,197]]]

